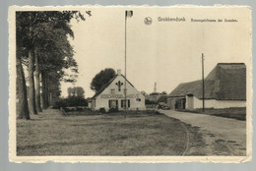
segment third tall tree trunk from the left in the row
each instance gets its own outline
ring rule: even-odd
[[[35,64],[35,71],[34,71],[34,78],[35,78],[35,106],[37,112],[41,111],[40,106],[40,82],[39,82],[39,63],[38,63],[38,53],[36,48],[34,49],[34,64]]]

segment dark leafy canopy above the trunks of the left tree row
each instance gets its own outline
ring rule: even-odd
[[[75,77],[64,79],[68,74],[63,70],[69,68],[78,73],[69,42],[69,37],[74,38],[69,24],[73,18],[85,20],[78,11],[17,12],[17,53],[26,59],[30,49],[36,48],[42,72],[54,71],[55,77],[75,82]]]

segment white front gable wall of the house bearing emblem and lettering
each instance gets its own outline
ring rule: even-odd
[[[121,91],[118,91],[118,86],[115,85],[118,81],[123,83],[121,85]],[[125,79],[121,76],[118,75],[116,79],[108,86],[106,87],[98,96],[96,96],[96,110],[99,108],[105,108],[105,110],[109,110],[108,107],[108,100],[118,100],[118,109],[122,110],[121,108],[121,100],[124,99],[124,83]],[[128,82],[126,83],[126,88],[127,88],[127,99],[130,99],[130,108],[128,110],[136,110],[137,108],[139,110],[146,110],[145,106],[145,96],[141,94],[140,91],[138,91],[135,87],[130,85]],[[109,97],[111,94],[111,89],[115,89],[115,94],[118,97]],[[140,98],[141,101],[137,101],[136,99]]]

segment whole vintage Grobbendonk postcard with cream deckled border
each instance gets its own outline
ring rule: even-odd
[[[246,162],[246,6],[12,6],[12,162]]]

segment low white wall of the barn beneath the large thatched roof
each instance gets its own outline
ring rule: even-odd
[[[194,109],[203,107],[203,100],[193,97]],[[246,101],[205,99],[205,108],[246,107]]]

